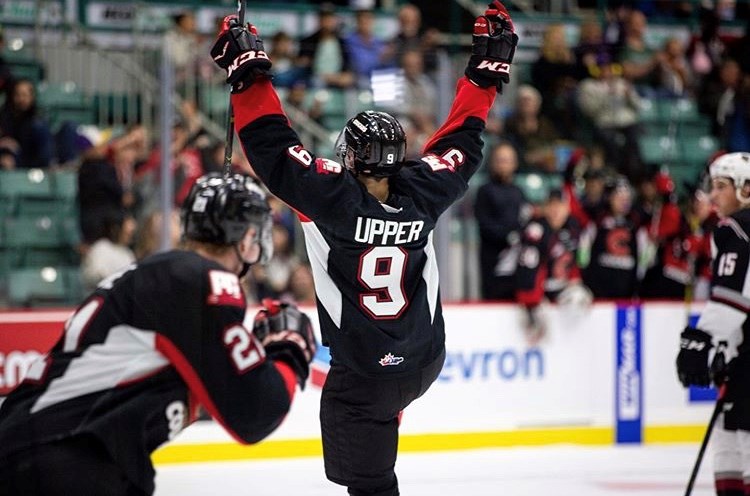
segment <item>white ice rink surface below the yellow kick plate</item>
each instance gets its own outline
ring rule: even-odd
[[[399,455],[402,496],[682,495],[697,444],[546,446]],[[707,453],[693,490],[713,494]],[[157,466],[157,496],[345,496],[319,458]]]

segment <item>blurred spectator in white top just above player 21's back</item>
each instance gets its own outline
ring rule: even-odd
[[[124,212],[111,211],[103,220],[104,236],[91,245],[81,259],[85,291],[93,291],[99,282],[135,262],[130,249],[135,219]]]

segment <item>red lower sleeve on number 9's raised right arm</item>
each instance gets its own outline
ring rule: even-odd
[[[467,117],[478,117],[482,121],[486,121],[490,107],[495,102],[496,94],[497,88],[494,86],[480,88],[465,76],[459,79],[456,85],[456,98],[453,100],[451,111],[440,129],[435,131],[435,134],[424,145],[422,153],[427,153],[438,140],[461,127]]]

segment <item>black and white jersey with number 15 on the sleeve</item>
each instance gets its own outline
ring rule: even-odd
[[[727,341],[747,352],[750,349],[747,319],[750,312],[750,209],[721,219],[711,238],[711,296],[696,327],[710,333],[714,341]]]

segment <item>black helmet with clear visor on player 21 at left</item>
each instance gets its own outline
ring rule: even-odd
[[[250,227],[256,230],[261,262],[273,254],[271,208],[261,187],[248,176],[219,173],[201,176],[182,206],[182,227],[187,239],[235,245]]]

